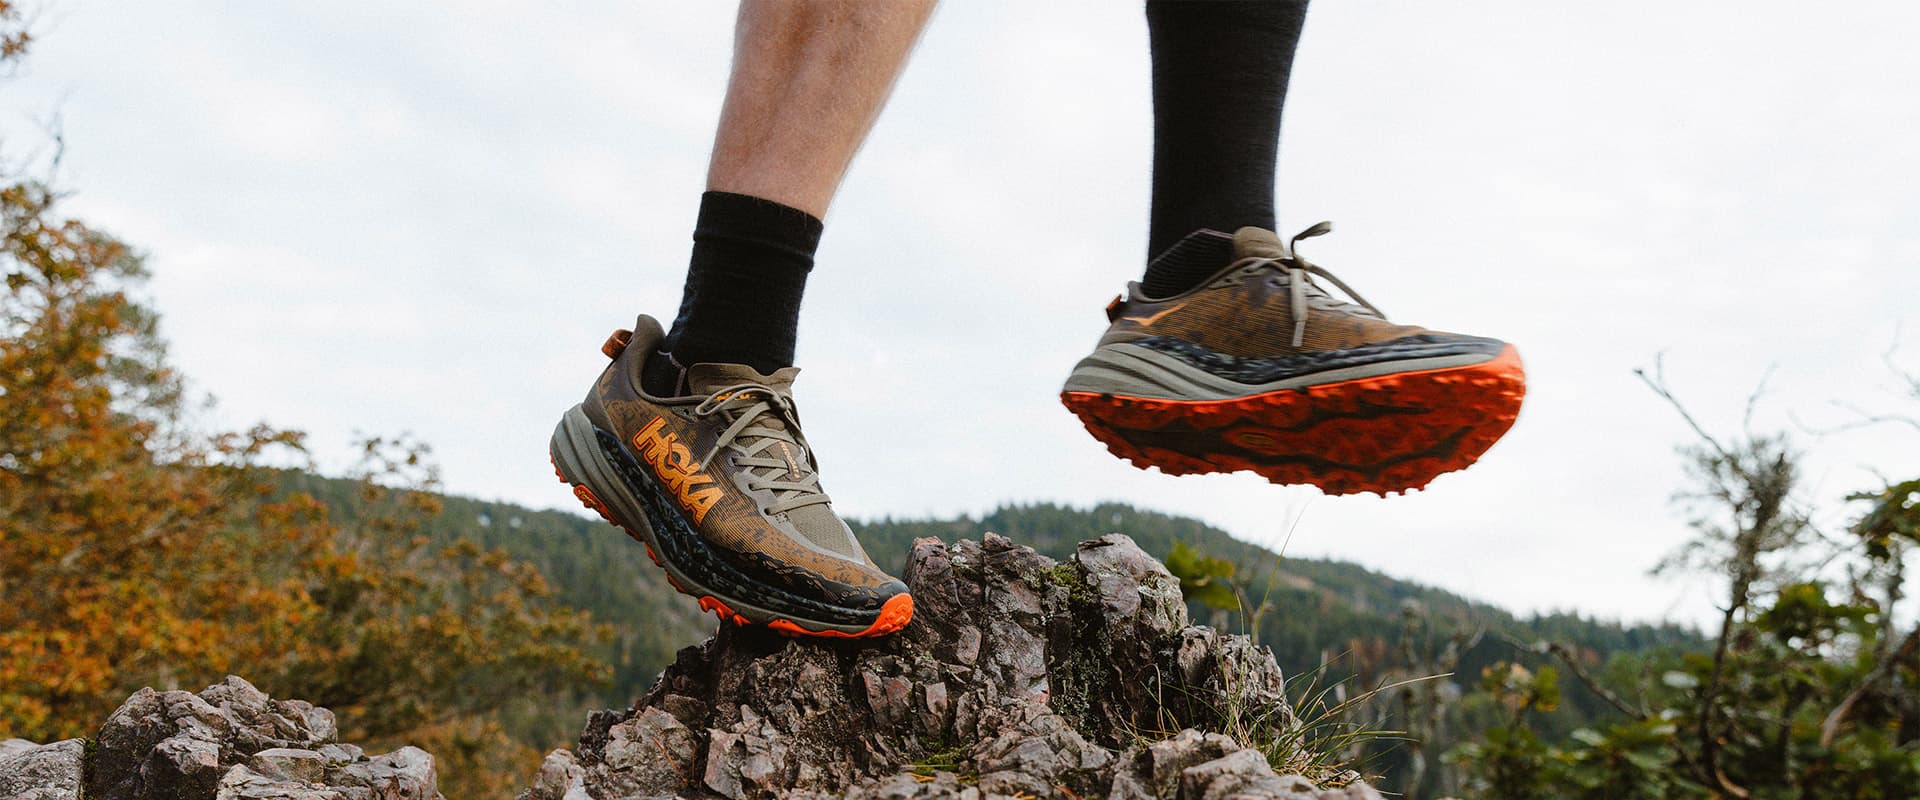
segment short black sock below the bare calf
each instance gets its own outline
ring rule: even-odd
[[[772,200],[703,194],[680,317],[647,357],[641,388],[674,397],[685,391],[682,370],[701,363],[760,372],[793,366],[801,295],[820,230],[814,215]]]

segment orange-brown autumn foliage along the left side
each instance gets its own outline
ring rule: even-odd
[[[0,61],[17,23],[0,0]],[[342,520],[267,466],[303,464],[300,434],[196,430],[140,253],[21,171],[0,161],[0,739],[88,735],[138,687],[240,673],[459,762],[501,752],[503,704],[605,679],[599,631],[538,570],[419,535],[424,447],[369,441]]]

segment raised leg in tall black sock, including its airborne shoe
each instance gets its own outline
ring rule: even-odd
[[[1154,228],[1140,282],[1062,401],[1165,474],[1394,493],[1473,464],[1519,414],[1513,345],[1388,322],[1273,230],[1296,0],[1150,0]],[[1238,226],[1235,232],[1233,226]],[[1329,294],[1325,280],[1352,301]]]

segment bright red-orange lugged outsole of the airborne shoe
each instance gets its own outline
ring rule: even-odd
[[[1513,426],[1521,355],[1217,401],[1062,391],[1087,432],[1164,474],[1256,472],[1329,495],[1421,489],[1463,470]]]

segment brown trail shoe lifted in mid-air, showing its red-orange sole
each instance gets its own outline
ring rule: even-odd
[[[1188,236],[1169,255],[1225,267],[1164,299],[1129,284],[1062,401],[1114,455],[1175,476],[1252,470],[1331,495],[1386,495],[1467,468],[1521,411],[1519,353],[1388,322],[1300,257],[1300,240],[1329,230],[1286,244],[1261,228]]]

